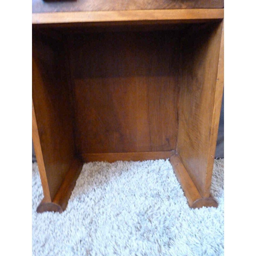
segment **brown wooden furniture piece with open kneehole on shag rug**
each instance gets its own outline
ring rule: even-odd
[[[85,162],[167,158],[190,207],[217,207],[223,1],[101,3],[32,1],[37,212],[65,210]]]

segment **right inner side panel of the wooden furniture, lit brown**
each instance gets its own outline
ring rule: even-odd
[[[222,23],[182,40],[177,152],[202,197],[210,195],[222,89],[216,84]],[[222,87],[223,88],[223,87]],[[215,124],[214,124],[215,123]]]

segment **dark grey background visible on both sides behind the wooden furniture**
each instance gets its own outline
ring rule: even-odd
[[[217,138],[217,145],[215,151],[215,158],[224,158],[224,92],[222,97],[222,104],[220,110],[220,124]],[[32,162],[36,161],[36,154],[32,140]]]

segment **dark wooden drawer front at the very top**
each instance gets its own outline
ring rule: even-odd
[[[32,0],[32,12],[223,8],[224,0]]]

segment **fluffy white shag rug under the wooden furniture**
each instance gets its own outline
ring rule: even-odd
[[[168,160],[84,164],[66,211],[36,213],[43,199],[32,164],[33,255],[224,255],[224,159],[214,160],[219,207],[190,209]]]

